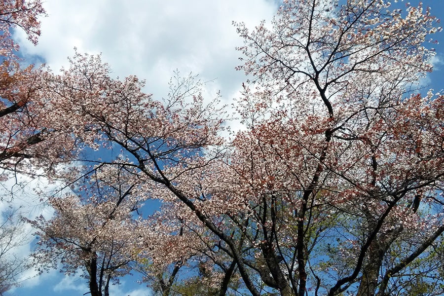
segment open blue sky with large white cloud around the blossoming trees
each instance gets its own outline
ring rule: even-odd
[[[402,7],[405,2],[399,1],[397,5]],[[412,5],[418,2],[410,0]],[[444,0],[422,2],[444,21]],[[45,0],[48,17],[42,20],[38,45],[27,42],[21,32],[15,37],[25,56],[45,62],[53,70],[67,65],[74,47],[79,52],[101,52],[116,76],[136,74],[146,79],[146,91],[155,98],[166,95],[169,77],[176,69],[199,74],[205,81],[216,78],[208,84],[206,95],[214,96],[221,90],[223,102],[229,104],[238,96],[244,80],[243,74],[234,70],[239,56],[234,47],[241,45],[242,40],[231,21],[244,21],[252,28],[262,19],[271,19],[276,10],[274,3],[272,0]],[[429,88],[435,91],[443,88],[444,33],[434,37],[440,41],[433,45],[437,51],[435,71],[425,79],[423,93]],[[28,190],[36,186],[33,182]],[[29,217],[42,210],[38,199],[35,196],[31,199],[34,205],[27,210]],[[22,199],[20,203],[26,207],[31,202]],[[50,216],[50,210],[45,211]],[[28,249],[25,246],[19,252],[26,253]],[[134,283],[137,279],[125,278],[122,285],[111,287],[111,296],[150,295],[148,288]],[[85,279],[53,271],[32,277],[9,295],[79,296],[86,292]]]

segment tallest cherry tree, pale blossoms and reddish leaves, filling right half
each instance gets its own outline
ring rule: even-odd
[[[429,9],[389,7],[287,1],[270,29],[237,25],[240,68],[255,83],[240,102],[250,130],[239,146],[252,147],[237,171],[265,195],[261,250],[272,250],[267,265],[282,295],[390,295],[406,274],[421,273],[401,270],[441,244],[442,98],[406,97],[431,71],[422,43],[441,29]],[[286,231],[273,229],[291,221],[275,210],[284,205],[294,227],[279,239]],[[283,248],[289,237],[293,246]]]

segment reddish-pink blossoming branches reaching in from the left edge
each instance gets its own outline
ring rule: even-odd
[[[17,56],[19,45],[12,30],[24,30],[37,44],[38,17],[45,15],[40,0],[0,1],[0,168],[3,172],[36,174],[74,151],[70,130],[57,129],[57,118],[46,116],[54,108],[44,90],[43,67],[29,65]],[[8,175],[2,172],[1,179]]]

